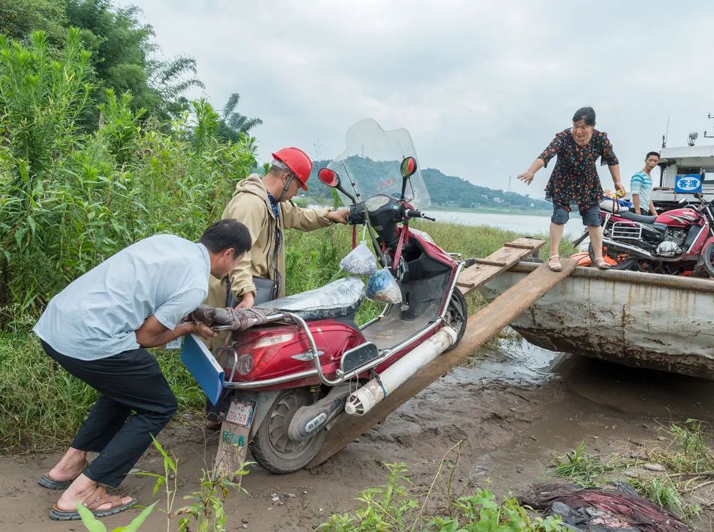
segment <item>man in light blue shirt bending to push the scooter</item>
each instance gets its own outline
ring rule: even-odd
[[[212,224],[198,244],[150,236],[49,302],[34,327],[44,351],[99,392],[69,450],[40,479],[46,488],[65,489],[50,518],[78,519],[76,501],[97,517],[136,503],[101,485],[119,486],[177,406],[159,363],[144,348],[189,333],[215,336],[203,323],[181,320],[206,298],[208,278],[225,277],[249,249],[250,233],[235,220]],[[87,451],[99,453],[91,464]]]

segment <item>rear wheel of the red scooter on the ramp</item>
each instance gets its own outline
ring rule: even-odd
[[[251,455],[263,469],[283,475],[305,467],[325,441],[325,431],[304,441],[291,440],[288,426],[295,413],[313,403],[304,388],[292,388],[278,395],[251,441]]]

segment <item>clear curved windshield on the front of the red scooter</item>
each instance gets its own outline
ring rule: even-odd
[[[342,186],[350,194],[355,194],[351,183],[356,183],[361,200],[375,194],[398,198],[402,187],[400,165],[406,157],[416,159],[414,144],[406,129],[384,131],[373,119],[364,119],[347,130],[347,149],[327,167],[337,172]],[[343,204],[349,204],[346,196],[340,196]],[[431,205],[418,159],[416,173],[409,179],[404,196],[416,209]]]

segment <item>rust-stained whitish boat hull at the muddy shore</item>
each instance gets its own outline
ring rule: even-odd
[[[491,301],[538,266],[522,262],[479,289]],[[511,326],[550,351],[714,379],[709,279],[575,268]]]

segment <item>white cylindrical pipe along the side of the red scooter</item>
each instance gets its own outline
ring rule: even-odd
[[[364,386],[351,394],[345,403],[345,411],[351,416],[364,416],[377,403],[395,391],[420,368],[446,351],[456,342],[456,331],[446,326],[426,342],[386,368]]]

